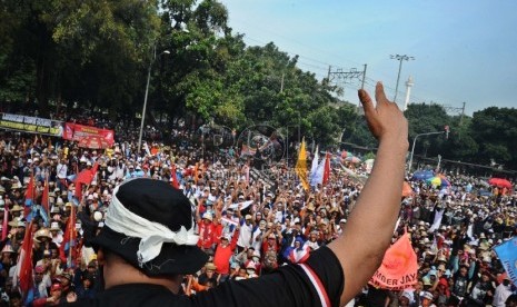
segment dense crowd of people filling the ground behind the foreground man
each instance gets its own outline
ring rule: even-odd
[[[96,150],[1,132],[0,225],[6,236],[0,242],[0,305],[52,306],[101,293],[96,250],[83,242],[83,232],[91,225],[103,227],[113,189],[131,178],[170,182],[191,202],[198,246],[209,258],[200,271],[185,277],[186,295],[302,261],[341,234],[364,186],[344,168],[332,168],[326,185],[304,189],[294,167],[282,161],[268,165],[267,178],[251,176],[253,165],[264,161],[239,156],[237,149],[209,152],[206,159],[205,150],[189,141],[195,133],[175,136],[172,143],[149,142],[138,152],[136,142],[120,138],[111,148]],[[91,169],[88,185],[74,184],[78,174]],[[445,188],[412,180],[410,174],[406,179],[412,192],[401,197],[392,241],[409,234],[418,283],[402,290],[365,285],[349,306],[517,306],[516,287],[493,249],[517,235],[516,195],[494,188],[493,195],[480,196],[478,180],[468,177],[449,176]],[[31,180],[31,206],[48,201],[49,212],[27,209]],[[44,185],[48,200],[42,199]],[[76,189],[82,189],[80,199],[74,199]],[[73,241],[66,236],[70,219],[76,221]],[[33,239],[30,297],[20,293],[22,280],[17,280],[28,231]]]

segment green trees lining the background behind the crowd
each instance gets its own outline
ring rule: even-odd
[[[246,46],[216,0],[0,1],[0,102],[37,100],[46,113],[49,101],[77,101],[135,116],[150,68],[150,115],[190,115],[238,130],[267,123],[290,142],[300,131],[320,148],[377,147],[356,106],[336,98],[338,88],[272,42]],[[516,109],[469,118],[411,103],[406,117],[411,143],[450,127],[448,139],[418,138],[416,155],[517,169]]]

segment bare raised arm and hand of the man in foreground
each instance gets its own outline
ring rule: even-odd
[[[379,141],[375,166],[344,234],[329,245],[345,273],[341,305],[356,296],[381,264],[400,209],[408,125],[397,105],[386,98],[380,82],[375,96],[376,107],[370,96],[359,90],[368,127]]]

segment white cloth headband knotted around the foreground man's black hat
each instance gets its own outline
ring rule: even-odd
[[[197,245],[199,236],[193,235],[193,222],[189,230],[185,226],[181,226],[179,231],[173,232],[165,225],[147,220],[123,207],[117,198],[119,187],[116,187],[113,190],[113,197],[108,207],[105,225],[128,237],[141,239],[137,251],[140,267],[160,255],[163,242]]]

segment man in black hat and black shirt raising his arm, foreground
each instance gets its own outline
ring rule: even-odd
[[[407,121],[397,105],[387,100],[382,85],[376,87],[376,107],[364,90],[359,99],[379,149],[342,235],[328,247],[311,252],[302,264],[264,277],[183,296],[183,275],[196,273],[207,261],[196,246],[189,200],[167,182],[133,179],[115,189],[105,227],[89,238],[98,248],[106,290],[77,304],[269,307],[348,303],[372,276],[390,244],[408,149]]]

